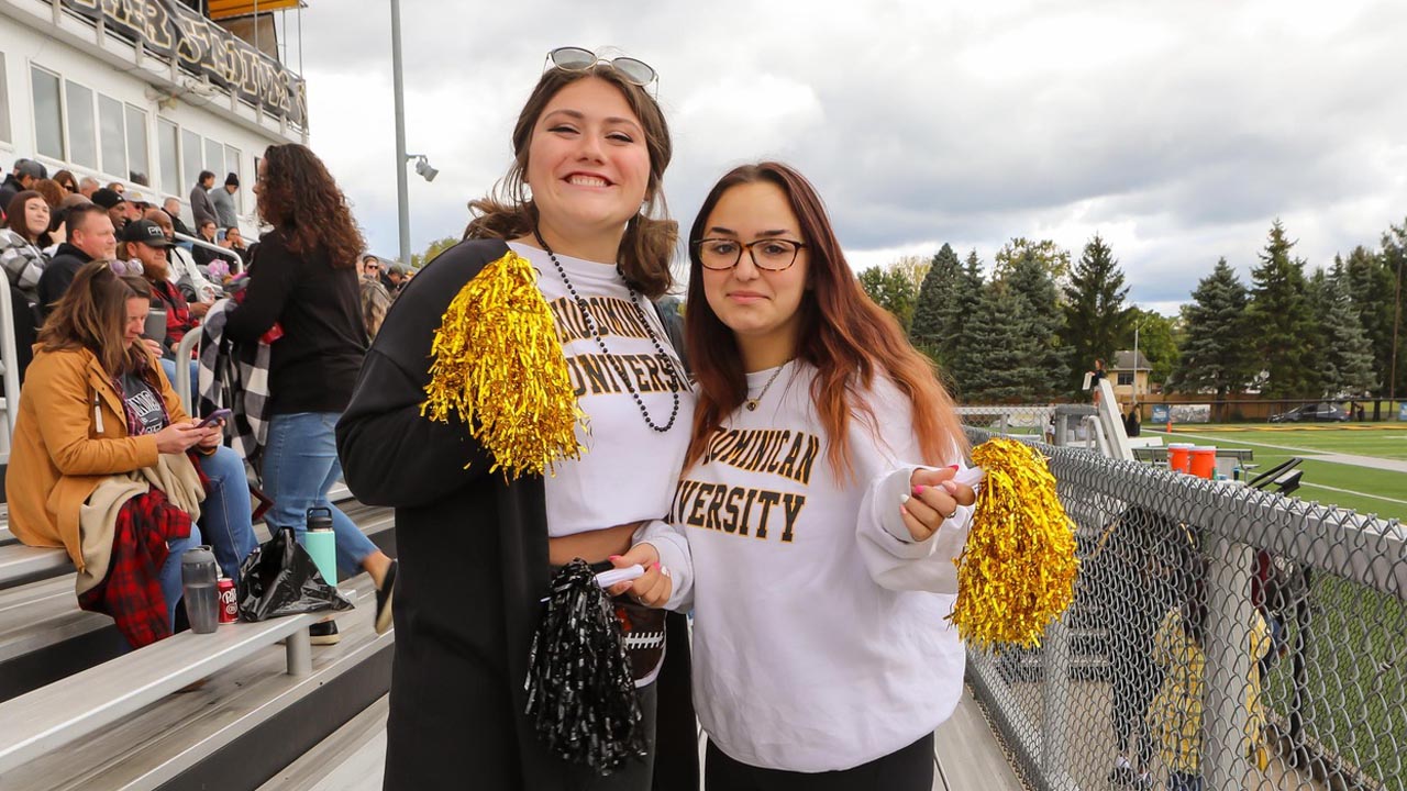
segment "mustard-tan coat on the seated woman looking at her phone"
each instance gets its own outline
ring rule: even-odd
[[[190,419],[151,357],[149,380],[172,422]],[[156,463],[156,436],[128,436],[122,394],[87,349],[35,348],[15,418],[6,498],[10,531],[30,546],[62,546],[83,570],[79,508],[107,476]]]

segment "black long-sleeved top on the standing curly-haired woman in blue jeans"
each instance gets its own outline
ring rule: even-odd
[[[340,412],[366,353],[356,266],[335,269],[322,248],[295,255],[283,231],[265,234],[245,301],[225,336],[253,342],[274,322],[283,338],[269,356],[269,414]]]

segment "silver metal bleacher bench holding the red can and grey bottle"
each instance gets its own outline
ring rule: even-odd
[[[357,601],[350,594],[353,604]],[[362,600],[369,595],[360,597]],[[227,624],[214,633],[182,632],[0,704],[0,776],[122,721],[183,687],[286,640],[288,673],[312,670],[308,626],[324,614]]]

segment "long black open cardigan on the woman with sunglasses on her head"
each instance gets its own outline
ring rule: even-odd
[[[505,252],[498,241],[463,242],[421,270],[387,314],[338,424],[348,486],[362,502],[395,507],[393,791],[566,791],[588,777],[549,754],[522,715],[528,650],[550,581],[542,477],[505,483],[463,424],[419,412],[440,317]],[[687,669],[687,643],[671,642],[668,654],[677,653]],[[687,687],[666,687],[661,674],[661,732],[666,718],[692,729],[687,694],[667,701],[666,690]]]

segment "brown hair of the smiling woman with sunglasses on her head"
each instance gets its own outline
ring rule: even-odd
[[[464,229],[464,238],[516,239],[533,232],[537,225],[537,210],[530,200],[523,198],[532,131],[557,91],[587,77],[597,77],[615,86],[644,128],[644,145],[650,155],[650,179],[644,190],[646,208],[626,224],[618,263],[626,280],[650,298],[657,298],[674,284],[670,262],[680,239],[680,224],[670,220],[664,191],[660,189],[664,169],[674,156],[674,142],[664,113],[654,99],[643,87],[626,82],[608,63],[597,63],[580,72],[549,69],[542,75],[518,114],[518,124],[514,125],[514,163],[490,194],[469,203],[473,218]]]

